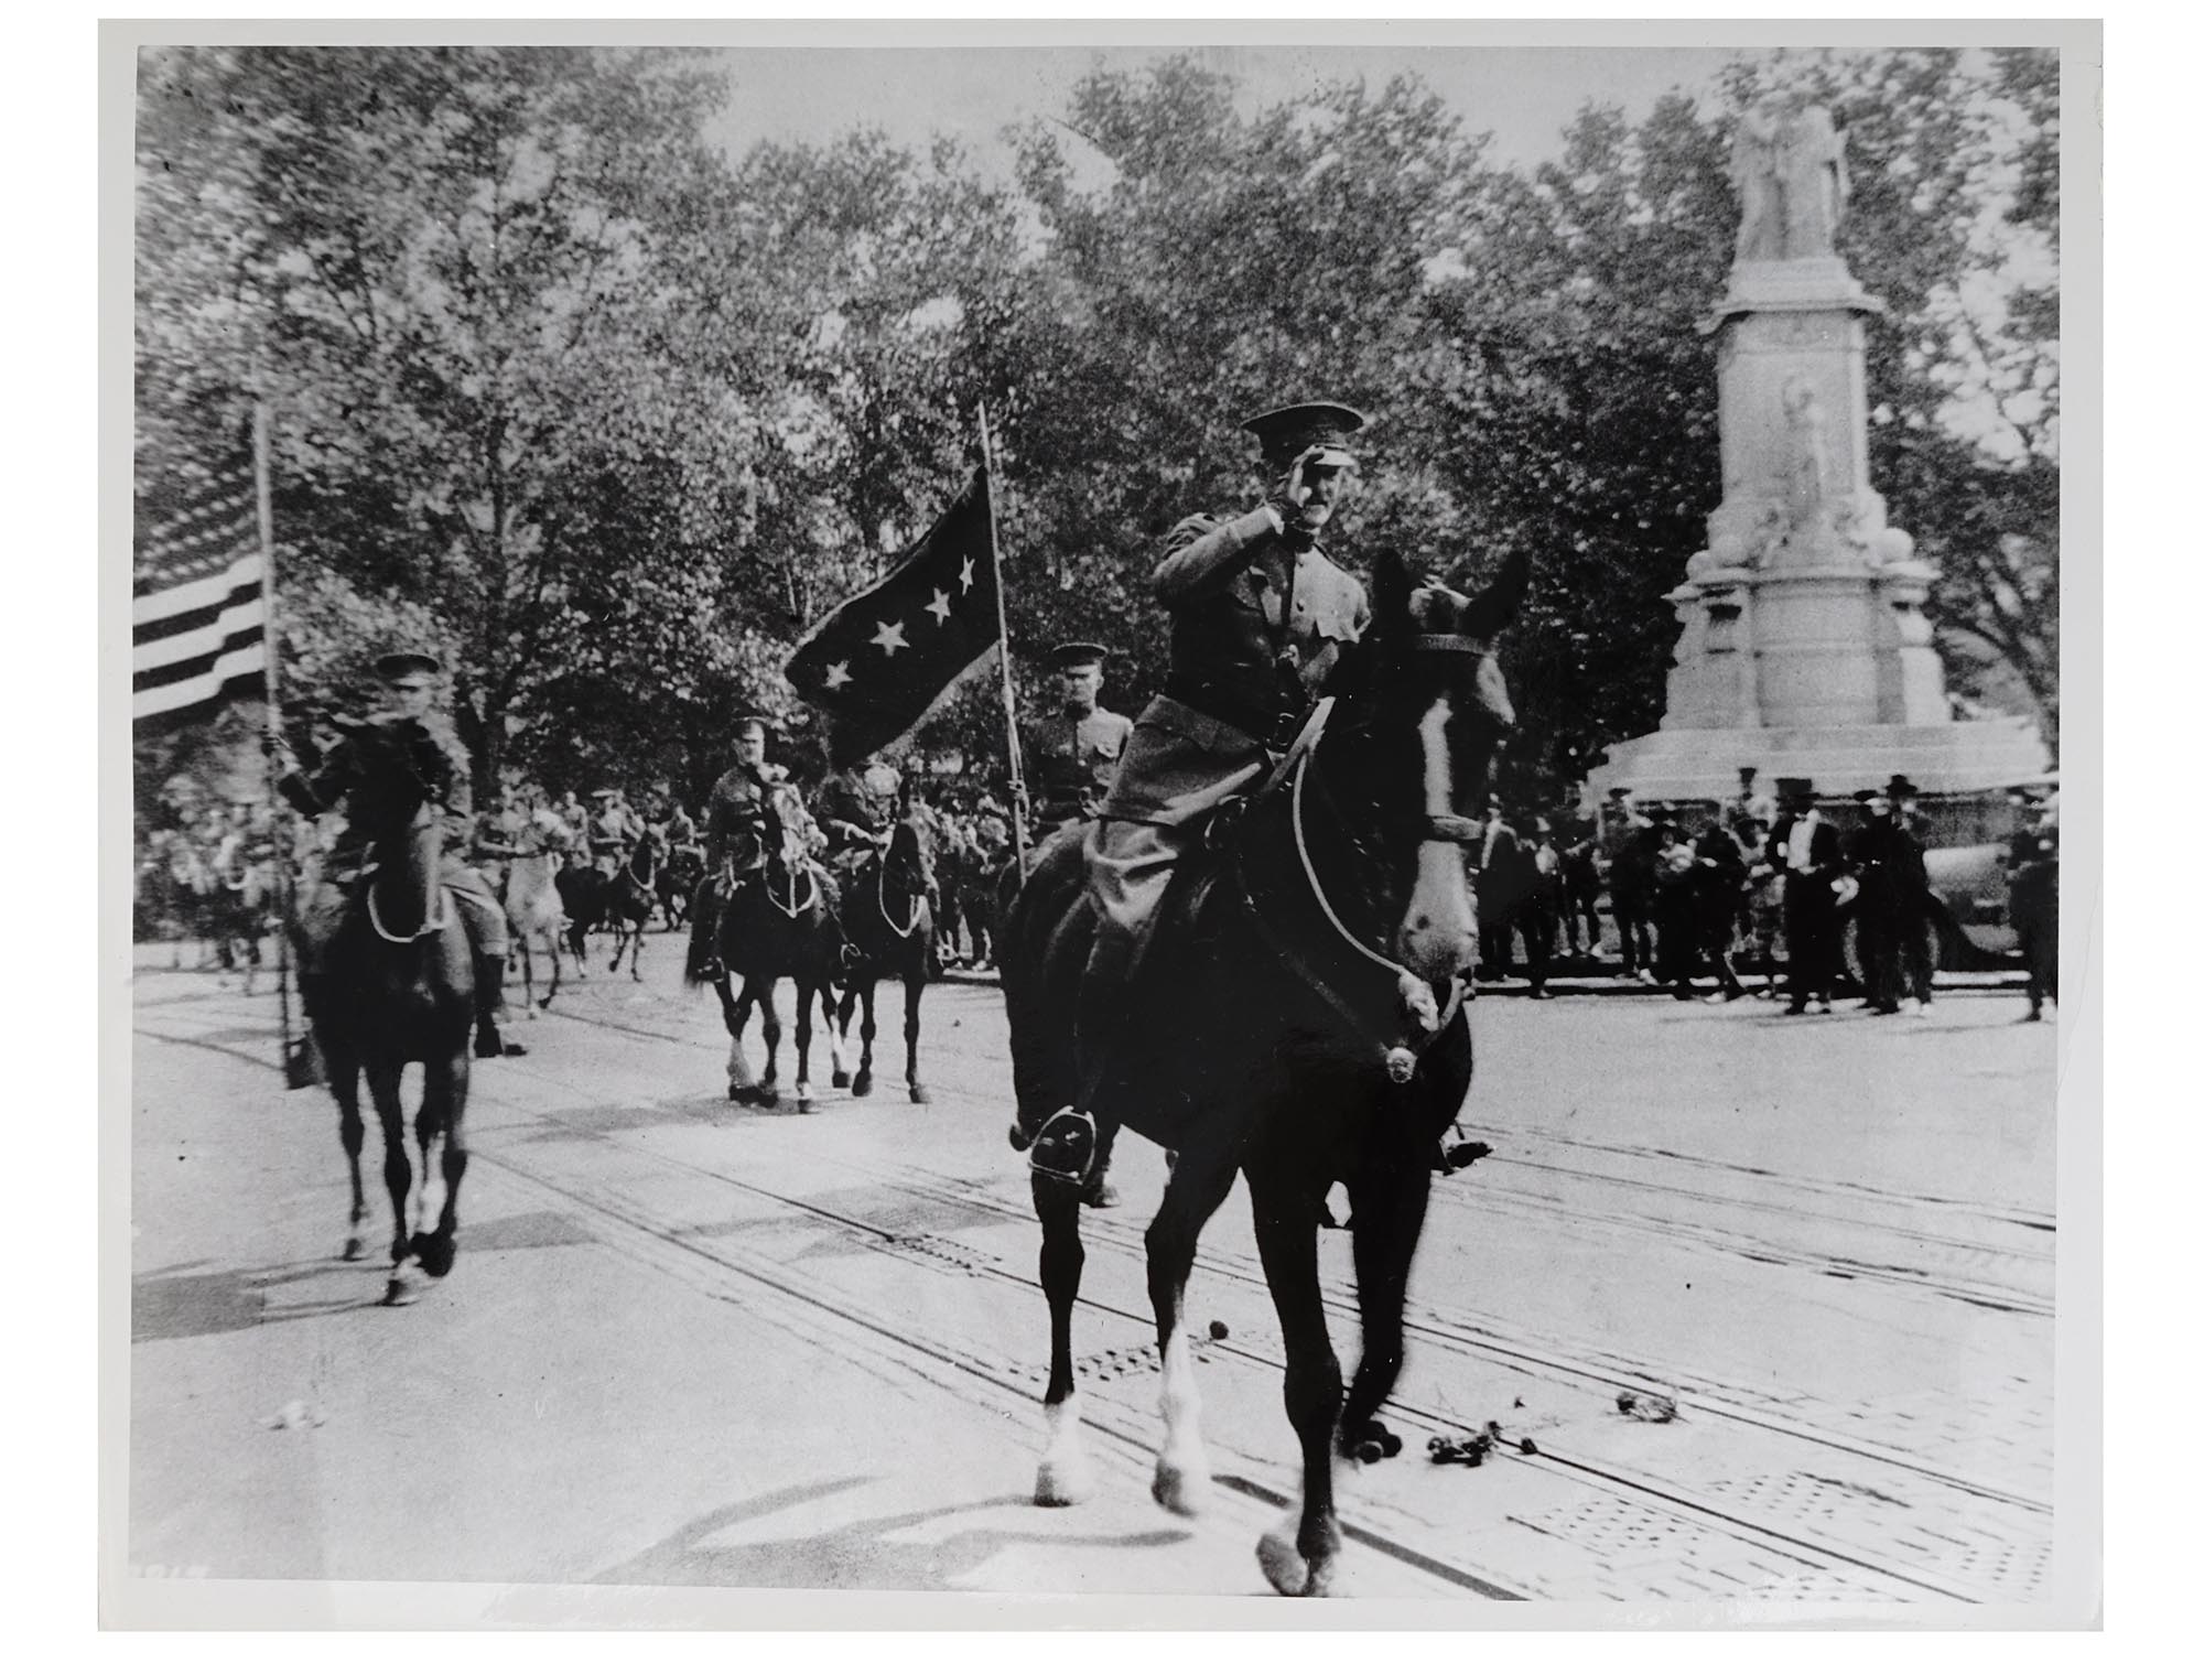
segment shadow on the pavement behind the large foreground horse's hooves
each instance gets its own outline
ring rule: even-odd
[[[961,1578],[1016,1545],[1164,1549],[1188,1543],[1195,1536],[1186,1527],[1157,1527],[1117,1536],[1049,1534],[1042,1523],[1062,1519],[1060,1512],[1040,1512],[1031,1530],[976,1527],[952,1532],[937,1541],[895,1536],[930,1521],[972,1516],[985,1510],[1023,1510],[1036,1514],[1031,1499],[1001,1497],[853,1521],[842,1527],[789,1538],[760,1538],[747,1545],[705,1543],[747,1521],[758,1521],[868,1483],[868,1477],[844,1477],[723,1505],[679,1527],[672,1536],[633,1560],[597,1574],[591,1582],[732,1585],[741,1589],[965,1589],[959,1582]]]

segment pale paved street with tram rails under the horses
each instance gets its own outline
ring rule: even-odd
[[[476,1067],[456,1272],[383,1309],[383,1267],[337,1261],[335,1106],[282,1089],[271,983],[165,965],[139,950],[134,1569],[1265,1591],[1254,1543],[1298,1470],[1243,1195],[1190,1287],[1214,1322],[1214,1510],[1148,1499],[1148,1144],[1087,1223],[1102,1485],[1029,1503],[1047,1309],[992,985],[928,990],[930,1106],[890,1034],[875,1095],[798,1115],[723,1100],[716,1003],[674,985],[677,937],[650,937],[641,983],[569,979],[527,1058]],[[2019,1009],[1481,998],[1463,1124],[1494,1153],[1435,1192],[1389,1411],[1408,1450],[1344,1474],[1347,1587],[2041,1598],[2054,1029]],[[879,1020],[899,1029],[893,985]],[[379,1254],[372,1124],[368,1177]],[[1351,1360],[1349,1241],[1325,1245]],[[1488,1419],[1481,1466],[1428,1461],[1430,1435]]]

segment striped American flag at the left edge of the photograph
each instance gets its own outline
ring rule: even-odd
[[[267,661],[249,458],[170,489],[139,542],[130,597],[130,716],[212,705]]]

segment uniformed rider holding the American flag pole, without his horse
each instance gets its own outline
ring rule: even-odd
[[[304,943],[300,976],[322,972],[328,943],[335,941],[353,910],[361,862],[372,849],[355,827],[355,822],[379,813],[355,796],[355,789],[364,787],[375,771],[361,743],[401,738],[408,743],[408,754],[430,802],[443,813],[443,888],[456,897],[454,906],[474,950],[474,1054],[522,1056],[522,1047],[503,1038],[496,1020],[498,1012],[505,1009],[505,957],[511,950],[505,910],[480,871],[463,860],[474,833],[474,785],[467,749],[434,710],[443,666],[432,655],[383,655],[375,663],[375,674],[383,681],[383,710],[337,741],[311,776],[300,769],[298,754],[289,745],[280,738],[271,741],[271,756],[284,765],[276,785],[300,813],[324,815],[348,804],[346,827],[328,851],[328,877],[300,893],[298,917]]]

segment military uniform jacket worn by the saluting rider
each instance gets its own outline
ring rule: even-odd
[[[1296,555],[1267,507],[1232,522],[1188,518],[1166,544],[1153,586],[1170,613],[1170,674],[1133,725],[1100,813],[1179,827],[1263,771],[1278,721],[1362,637],[1369,597],[1322,551]]]

